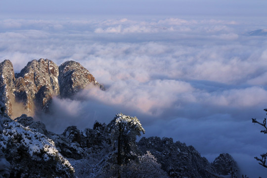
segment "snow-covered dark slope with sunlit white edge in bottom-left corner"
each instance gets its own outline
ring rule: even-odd
[[[74,178],[74,168],[58,151],[53,140],[36,129],[2,117],[0,149],[11,164],[10,177]]]

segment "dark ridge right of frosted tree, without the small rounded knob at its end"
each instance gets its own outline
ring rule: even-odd
[[[142,137],[137,145],[143,154],[150,151],[171,178],[213,178],[207,173],[214,173],[211,164],[193,146],[157,136]]]

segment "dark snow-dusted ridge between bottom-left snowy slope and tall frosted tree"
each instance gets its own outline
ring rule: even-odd
[[[104,135],[105,124],[102,125],[98,122],[95,122],[93,129],[86,128],[80,131],[76,126],[69,126],[62,134],[54,134],[46,130],[44,123],[36,122],[26,114],[21,115],[14,121],[49,137],[54,141],[57,149],[64,157],[75,160],[88,158],[90,153],[101,151],[104,143],[110,142],[106,138],[107,136]]]

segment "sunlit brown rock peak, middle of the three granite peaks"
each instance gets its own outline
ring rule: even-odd
[[[16,74],[15,98],[23,102],[25,109],[33,110],[35,103],[44,111],[52,95],[59,94],[58,66],[48,59],[33,60]]]

